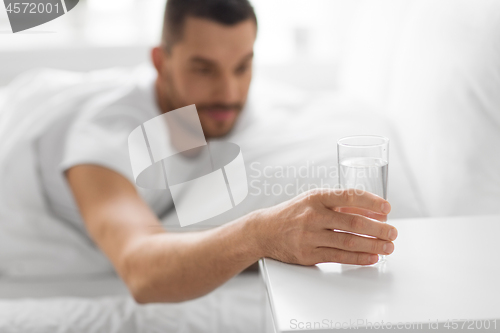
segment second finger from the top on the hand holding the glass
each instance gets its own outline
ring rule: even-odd
[[[389,241],[393,241],[398,237],[398,230],[390,224],[374,221],[361,215],[333,211],[332,213],[334,216],[327,219],[325,229],[339,229]]]

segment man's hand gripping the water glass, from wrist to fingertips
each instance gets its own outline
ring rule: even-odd
[[[371,265],[377,254],[394,251],[396,228],[373,220],[385,221],[390,210],[386,200],[369,192],[309,191],[259,211],[258,244],[263,257],[287,263]]]

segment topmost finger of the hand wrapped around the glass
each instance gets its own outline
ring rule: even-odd
[[[362,190],[319,189],[314,192],[314,195],[328,208],[358,207],[379,214],[389,214],[391,211],[391,205],[387,200]]]

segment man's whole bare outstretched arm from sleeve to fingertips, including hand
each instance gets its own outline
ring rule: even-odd
[[[139,303],[203,296],[262,257],[302,265],[372,264],[375,253],[392,252],[397,235],[385,223],[336,211],[352,207],[385,216],[390,210],[375,195],[347,191],[309,192],[214,229],[168,233],[120,174],[78,165],[66,176],[90,236]]]

